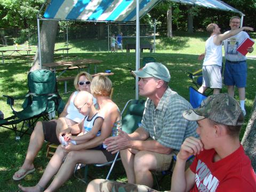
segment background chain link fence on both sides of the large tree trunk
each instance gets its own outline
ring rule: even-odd
[[[58,47],[71,47],[79,52],[108,52],[110,51],[110,37],[115,38],[123,33],[123,49],[126,44],[135,44],[135,24],[107,24],[107,23],[84,23],[74,25],[74,22],[61,22],[56,36]],[[152,44],[154,48],[154,25],[140,24],[140,43]],[[37,28],[27,29],[0,29],[0,45],[27,46],[37,45]],[[55,47],[57,47],[55,45]],[[71,50],[70,50],[71,52]]]

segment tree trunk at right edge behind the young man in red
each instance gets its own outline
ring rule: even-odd
[[[252,162],[252,167],[256,171],[256,96],[254,98],[251,117],[246,126],[244,137],[242,139],[242,145],[244,147],[246,155],[249,156]]]

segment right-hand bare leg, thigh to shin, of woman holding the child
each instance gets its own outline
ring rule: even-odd
[[[70,178],[77,163],[93,164],[106,162],[107,159],[100,150],[70,151],[51,185],[45,190],[45,192],[56,191],[60,186],[62,186],[63,183]]]

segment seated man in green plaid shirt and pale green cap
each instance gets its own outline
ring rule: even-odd
[[[192,107],[170,89],[171,76],[162,63],[150,62],[132,73],[140,78],[140,95],[148,98],[141,125],[131,134],[120,131],[104,143],[112,153],[120,150],[129,183],[152,187],[151,171],[169,169],[183,140],[196,137],[196,123],[182,117],[182,111]]]

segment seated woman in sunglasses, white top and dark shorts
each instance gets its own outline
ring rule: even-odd
[[[90,74],[86,72],[79,73],[74,80],[74,86],[77,91],[70,95],[65,109],[62,111],[59,118],[52,119],[48,122],[39,121],[36,123],[34,131],[30,137],[25,161],[20,169],[14,173],[14,180],[21,180],[25,178],[27,174],[35,171],[34,159],[39,150],[42,148],[44,140],[59,145],[59,133],[65,129],[71,129],[71,126],[82,121],[84,116],[79,114],[76,110],[74,106],[74,98],[76,97],[78,91],[91,92],[91,81],[92,77]],[[96,103],[95,99],[94,102]]]

